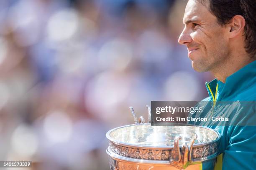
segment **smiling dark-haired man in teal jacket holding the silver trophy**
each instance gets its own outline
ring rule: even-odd
[[[256,0],[189,0],[183,23],[179,43],[187,46],[192,67],[216,77],[206,82],[210,97],[205,100],[212,107],[216,101],[256,101]],[[202,169],[255,169],[256,128],[243,122],[252,122],[255,114],[246,112],[237,125],[208,125],[222,136],[222,154]]]

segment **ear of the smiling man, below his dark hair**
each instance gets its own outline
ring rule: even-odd
[[[245,27],[245,19],[242,15],[235,15],[229,23],[230,31],[229,31],[229,37],[233,38],[237,35],[243,35],[244,27]]]

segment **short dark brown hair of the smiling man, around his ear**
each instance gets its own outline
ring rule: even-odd
[[[228,24],[235,15],[242,15],[245,49],[250,57],[256,57],[256,0],[198,0],[208,4],[210,12],[216,16],[220,25]]]

